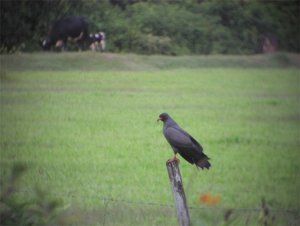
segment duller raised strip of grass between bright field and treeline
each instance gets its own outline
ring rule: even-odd
[[[106,71],[157,70],[177,68],[282,68],[298,67],[298,54],[275,53],[266,55],[208,55],[162,56],[112,54],[95,52],[64,52],[0,55],[2,67],[7,70]]]

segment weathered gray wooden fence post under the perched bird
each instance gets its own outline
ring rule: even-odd
[[[190,226],[189,210],[186,204],[182,179],[178,167],[178,161],[167,162],[170,184],[173,191],[177,217],[180,226]]]

